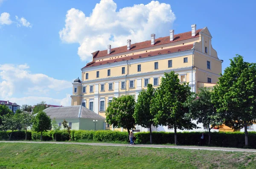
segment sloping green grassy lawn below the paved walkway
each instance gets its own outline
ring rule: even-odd
[[[52,166],[51,163],[53,163]],[[0,143],[0,169],[256,168],[256,153],[72,144]]]

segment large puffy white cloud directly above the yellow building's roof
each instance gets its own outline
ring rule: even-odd
[[[169,34],[175,20],[171,6],[158,1],[134,5],[116,11],[113,0],[101,0],[89,17],[84,12],[71,8],[67,11],[65,28],[60,32],[63,42],[79,43],[78,55],[81,60],[91,60],[91,53],[149,40],[151,34],[157,37]]]

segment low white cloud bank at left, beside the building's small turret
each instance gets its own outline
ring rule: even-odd
[[[70,105],[70,95],[61,95],[65,89],[72,91],[72,82],[54,79],[42,73],[31,73],[26,64],[0,65],[0,100],[17,104],[46,101],[47,104]],[[51,98],[56,95],[64,99]]]

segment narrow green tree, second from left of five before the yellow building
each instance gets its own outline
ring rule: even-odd
[[[155,111],[150,111],[151,101],[154,98],[154,88],[151,84],[148,84],[147,90],[141,90],[137,103],[134,109],[135,123],[142,127],[149,128],[150,131],[150,144],[152,144],[152,129],[151,126],[157,126],[154,124]]]

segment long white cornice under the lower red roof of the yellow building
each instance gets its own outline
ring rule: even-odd
[[[146,58],[128,60],[128,63],[129,64],[137,64],[137,63],[150,62],[150,61],[155,61],[155,60],[162,60],[162,59],[186,56],[186,55],[190,55],[190,54],[193,54],[193,50],[175,52],[175,53],[171,53],[171,54],[161,54],[161,55],[157,55],[157,56],[150,56],[150,57],[146,57]],[[109,64],[105,64],[105,65],[99,65],[99,66],[95,66],[95,67],[82,68],[82,71],[88,72],[88,71],[92,71],[92,70],[100,70],[100,69],[105,69],[105,68],[113,68],[113,67],[117,67],[117,66],[125,66],[125,65],[127,65],[126,61],[127,60],[121,61],[121,62],[109,63]]]

